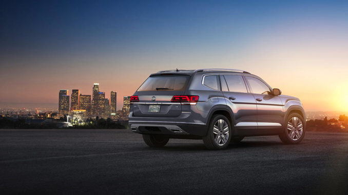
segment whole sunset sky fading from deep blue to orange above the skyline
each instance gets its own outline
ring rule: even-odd
[[[306,111],[348,111],[348,1],[2,1],[0,102],[132,95],[167,69],[234,68]]]

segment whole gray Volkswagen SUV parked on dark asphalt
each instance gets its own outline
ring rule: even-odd
[[[296,144],[305,134],[305,113],[298,98],[246,71],[177,69],[151,74],[131,96],[129,127],[151,147],[174,138],[224,149],[265,135]]]

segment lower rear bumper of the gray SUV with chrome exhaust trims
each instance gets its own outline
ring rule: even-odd
[[[129,128],[139,134],[205,136],[205,123],[129,120]]]

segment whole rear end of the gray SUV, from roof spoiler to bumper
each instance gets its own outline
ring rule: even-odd
[[[171,138],[203,136],[206,125],[195,109],[199,95],[188,90],[192,76],[190,71],[151,74],[131,96],[131,130]]]

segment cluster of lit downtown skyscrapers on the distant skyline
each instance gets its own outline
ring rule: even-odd
[[[117,110],[117,92],[112,91],[110,99],[105,98],[99,83],[94,83],[91,95],[82,95],[80,90],[72,90],[71,98],[68,90],[59,91],[58,116],[72,116],[73,121],[85,121],[87,118],[111,118],[115,121],[128,120],[130,96],[123,97],[123,107]],[[69,105],[70,104],[70,105]]]

